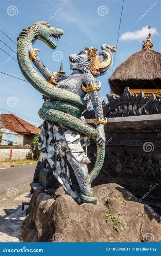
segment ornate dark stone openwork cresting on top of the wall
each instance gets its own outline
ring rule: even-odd
[[[114,116],[137,116],[161,113],[161,100],[156,99],[156,95],[151,93],[150,97],[144,97],[143,91],[137,95],[131,95],[129,87],[125,87],[121,97],[111,96],[102,102],[104,117]],[[86,119],[94,117],[94,111],[88,109],[84,116]]]

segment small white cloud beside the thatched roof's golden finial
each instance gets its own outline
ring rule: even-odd
[[[141,30],[135,30],[133,32],[126,32],[121,35],[120,40],[144,40],[147,37],[147,34],[149,33],[148,26],[142,27]],[[157,34],[156,28],[150,28],[150,33],[152,35]]]

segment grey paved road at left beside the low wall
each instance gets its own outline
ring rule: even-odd
[[[6,168],[0,170],[0,193],[11,187],[22,186],[24,183],[32,183],[35,165]]]

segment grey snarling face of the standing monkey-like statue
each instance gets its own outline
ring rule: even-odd
[[[72,53],[69,56],[69,61],[71,70],[79,70],[83,73],[87,73],[92,59],[88,58],[87,51],[81,51],[78,54]]]

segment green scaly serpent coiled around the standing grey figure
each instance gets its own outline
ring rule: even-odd
[[[47,96],[50,100],[43,103],[39,110],[39,116],[52,122],[57,122],[71,129],[86,134],[92,139],[99,136],[97,129],[85,124],[79,117],[82,111],[86,109],[86,101],[80,96],[45,81],[32,67],[29,59],[29,46],[33,38],[37,38],[46,43],[50,48],[55,49],[56,43],[51,40],[51,36],[59,37],[63,31],[50,26],[47,22],[36,22],[28,27],[24,37],[19,38],[17,44],[17,59],[22,74],[26,80],[41,94]],[[56,35],[56,36],[55,36]],[[99,174],[105,156],[105,144],[97,145],[97,156],[90,172],[90,182]]]

